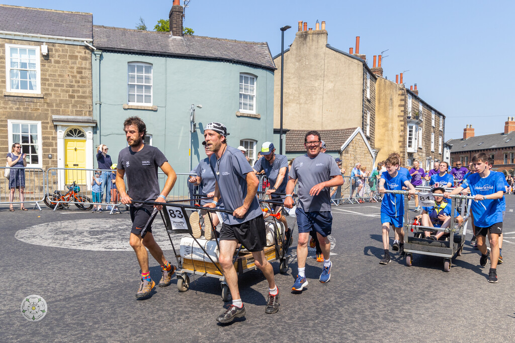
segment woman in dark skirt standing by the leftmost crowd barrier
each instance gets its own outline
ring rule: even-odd
[[[25,198],[25,170],[21,168],[27,167],[27,160],[25,159],[27,154],[22,153],[22,146],[20,143],[14,143],[11,147],[11,152],[7,154],[7,163],[11,168],[9,171],[9,211],[14,211],[12,207],[12,201],[14,200],[14,191],[18,188],[18,194],[20,196],[20,209],[26,211],[27,209],[23,206]]]

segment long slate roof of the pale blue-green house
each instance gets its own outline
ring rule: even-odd
[[[276,69],[266,42],[243,42],[191,35],[171,37],[169,32],[94,25],[93,45],[102,50],[214,59]]]

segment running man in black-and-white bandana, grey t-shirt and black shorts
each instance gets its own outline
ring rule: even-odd
[[[255,266],[261,269],[268,281],[265,313],[279,311],[279,290],[274,281],[272,265],[268,263],[263,251],[266,232],[265,220],[256,196],[259,180],[242,152],[227,145],[228,135],[225,125],[219,122],[211,122],[204,127],[206,146],[214,152],[210,157],[210,165],[216,179],[213,203],[204,206],[214,208],[221,196],[224,198],[225,208],[233,211],[227,215],[220,229],[218,260],[232,295],[232,305],[216,318],[221,323],[228,323],[245,315],[245,306],[239,296],[238,276],[233,265],[238,243],[252,252]]]

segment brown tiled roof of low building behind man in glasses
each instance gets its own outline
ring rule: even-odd
[[[328,151],[340,151],[341,146],[357,128],[317,130]],[[304,136],[310,130],[289,130],[286,133],[286,152],[305,152]]]

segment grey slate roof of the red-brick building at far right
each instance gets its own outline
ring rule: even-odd
[[[452,145],[451,153],[510,148],[515,147],[515,131],[506,135],[504,133],[494,133],[491,135],[469,137],[467,139],[451,139],[447,141],[447,143]]]

